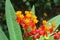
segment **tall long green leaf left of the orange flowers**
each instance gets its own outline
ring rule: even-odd
[[[23,40],[20,26],[15,21],[16,15],[10,0],[6,0],[5,10],[10,40]]]

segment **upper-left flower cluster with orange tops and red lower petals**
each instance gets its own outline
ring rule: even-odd
[[[36,30],[36,23],[38,23],[37,17],[32,15],[31,11],[25,11],[25,15],[22,14],[22,11],[16,12],[16,20],[22,25],[23,29],[27,30],[31,28],[32,31]]]

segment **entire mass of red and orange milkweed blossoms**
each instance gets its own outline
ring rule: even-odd
[[[42,21],[42,25],[38,29],[36,29],[36,23],[38,23],[36,15],[32,15],[33,12],[25,11],[25,14],[22,14],[22,11],[16,12],[16,21],[19,25],[22,25],[24,34],[23,38],[32,37],[33,40],[40,38],[40,36],[48,37],[49,34],[54,33],[54,39],[60,38],[60,33],[55,33],[54,28],[56,26],[55,23],[51,24],[51,27],[47,27],[46,20]]]

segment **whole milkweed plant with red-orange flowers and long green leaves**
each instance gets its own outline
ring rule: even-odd
[[[24,13],[15,12],[10,0],[6,0],[5,14],[9,38],[0,28],[0,40],[60,40],[60,31],[57,29],[60,24],[60,15],[48,21],[42,20],[42,24],[37,28],[36,24],[39,20],[34,8],[33,6],[32,10]]]

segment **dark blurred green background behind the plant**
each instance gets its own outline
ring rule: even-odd
[[[35,14],[38,17],[39,23],[43,19],[49,20],[50,18],[60,14],[60,0],[11,0],[15,11],[31,10],[32,6],[35,6]],[[0,0],[0,25],[2,26],[5,34],[8,34],[5,19],[5,0]],[[9,37],[7,35],[7,37]]]

